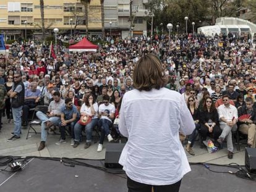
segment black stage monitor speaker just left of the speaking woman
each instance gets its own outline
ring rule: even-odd
[[[122,149],[125,143],[108,143],[106,145],[105,167],[107,168],[121,168],[122,165],[118,163],[121,156]]]

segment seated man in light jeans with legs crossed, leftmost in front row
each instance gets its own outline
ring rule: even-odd
[[[38,151],[45,148],[45,141],[47,138],[47,130],[51,125],[59,125],[61,122],[61,107],[65,105],[64,100],[61,99],[59,91],[53,93],[53,101],[50,102],[47,114],[41,111],[36,112],[36,116],[41,120],[41,143]]]

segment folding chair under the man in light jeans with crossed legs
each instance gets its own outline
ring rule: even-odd
[[[41,132],[37,132],[35,130],[35,128],[33,127],[35,125],[41,125],[41,120],[36,117],[36,112],[38,112],[38,111],[41,111],[44,114],[46,114],[46,112],[48,111],[48,106],[36,106],[35,107],[35,111],[33,112],[32,120],[28,123],[29,128],[28,128],[26,140],[28,139],[29,133],[35,133],[35,134],[41,133]],[[32,129],[33,131],[30,131],[30,129]]]

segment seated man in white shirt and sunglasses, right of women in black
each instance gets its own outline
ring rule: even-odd
[[[229,85],[230,86],[230,85]],[[228,158],[233,159],[233,141],[232,132],[237,130],[237,109],[235,106],[229,104],[229,96],[224,94],[222,96],[223,104],[218,107],[218,114],[220,119],[220,128],[222,130],[218,143],[222,144],[224,139],[227,140]]]

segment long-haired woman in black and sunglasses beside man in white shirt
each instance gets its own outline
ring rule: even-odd
[[[200,141],[200,147],[203,148],[203,141],[207,140],[207,135],[210,134],[213,134],[213,138],[215,140],[214,143],[216,146],[220,146],[217,143],[217,140],[221,134],[218,111],[215,108],[213,99],[210,98],[210,96],[207,96],[203,102],[203,109],[200,111],[200,123],[200,135],[202,138]]]

